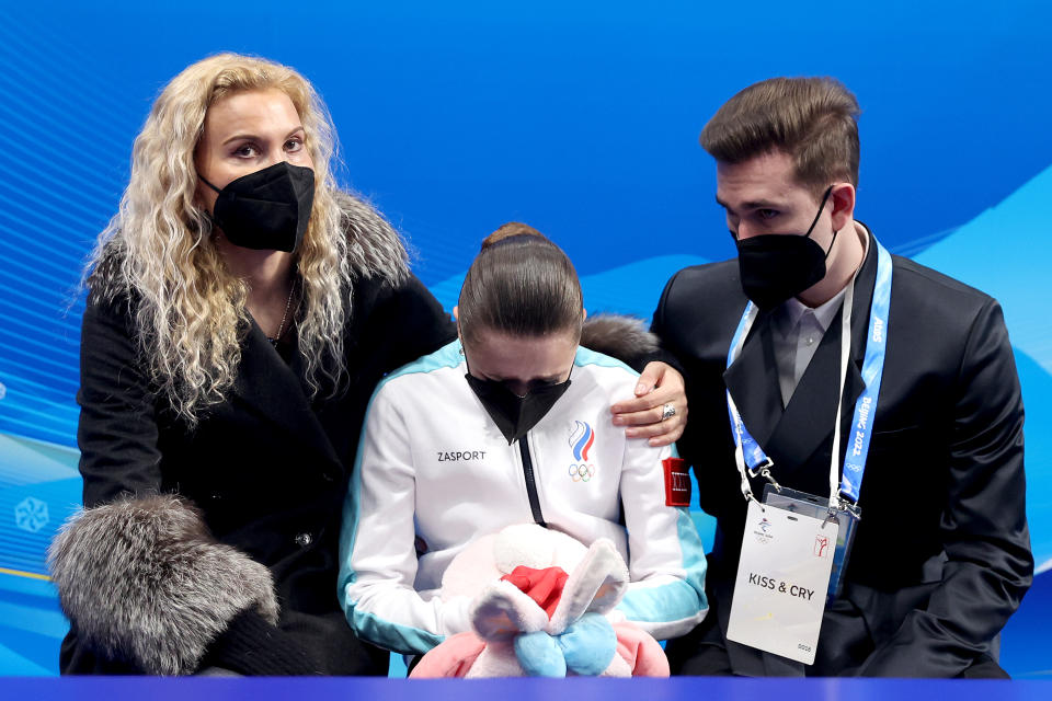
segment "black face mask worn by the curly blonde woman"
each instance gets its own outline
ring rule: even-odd
[[[235,245],[291,253],[304,240],[315,202],[315,171],[282,161],[219,189],[211,220]]]

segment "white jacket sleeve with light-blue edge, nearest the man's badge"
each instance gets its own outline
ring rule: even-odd
[[[667,506],[662,460],[671,448],[629,438],[621,466],[631,584],[617,610],[658,640],[690,631],[709,609],[705,549],[686,508]]]

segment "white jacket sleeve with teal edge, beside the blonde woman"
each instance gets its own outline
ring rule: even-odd
[[[340,533],[340,605],[358,637],[425,653],[469,630],[468,597],[424,599],[416,576],[415,473],[409,432],[381,384],[369,403]]]

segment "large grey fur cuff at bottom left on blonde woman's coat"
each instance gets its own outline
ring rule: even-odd
[[[247,609],[277,622],[270,570],[216,542],[201,514],[175,496],[81,512],[55,537],[48,564],[83,641],[147,674],[193,673]]]

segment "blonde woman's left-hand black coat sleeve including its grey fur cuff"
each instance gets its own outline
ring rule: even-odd
[[[146,368],[127,302],[89,303],[78,393],[87,510],[62,528],[49,551],[59,600],[72,623],[60,654],[64,674],[190,674],[207,645],[194,642],[192,629],[221,632],[237,612],[254,611],[256,601],[275,597],[270,572],[215,543],[192,504],[157,496],[160,430]],[[64,541],[76,547],[65,552]],[[151,583],[162,566],[167,581]],[[173,587],[181,577],[183,584]],[[194,587],[210,596],[188,597]],[[112,599],[114,590],[122,591],[119,600]],[[182,606],[184,599],[197,604]],[[273,608],[276,619],[276,602]],[[270,674],[301,669],[291,652],[270,659],[264,646],[281,643],[277,635],[260,640],[258,664],[277,664]]]

